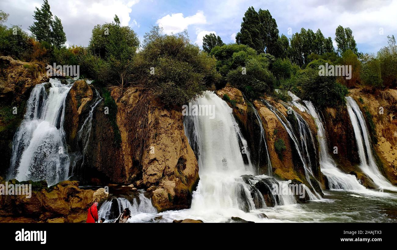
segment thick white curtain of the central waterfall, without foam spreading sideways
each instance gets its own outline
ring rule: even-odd
[[[185,122],[185,130],[195,128],[188,129],[189,143],[200,151],[198,154],[200,181],[193,195],[191,209],[197,211],[253,209],[254,203],[249,185],[240,177],[243,174],[253,174],[252,164],[247,142],[241,136],[232,109],[220,97],[209,91],[192,105],[206,105],[215,109],[213,119],[210,116],[185,118],[185,121],[193,122],[193,124]],[[194,135],[191,134],[192,132]],[[242,148],[240,143],[243,144]],[[246,154],[248,164],[244,163],[243,154]]]

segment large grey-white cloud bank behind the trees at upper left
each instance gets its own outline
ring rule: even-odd
[[[138,2],[139,0],[50,0],[49,4],[52,14],[62,20],[67,44],[88,45],[93,27],[112,22],[114,15],[119,17],[121,25],[130,25],[132,6]],[[6,25],[18,24],[30,33],[28,27],[34,21],[33,11],[41,5],[42,0],[2,0],[0,10],[10,13]],[[135,23],[131,21],[133,24]]]

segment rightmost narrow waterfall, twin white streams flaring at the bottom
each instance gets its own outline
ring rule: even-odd
[[[397,187],[387,181],[378,169],[378,165],[374,160],[374,155],[372,155],[370,135],[360,108],[351,96],[347,96],[346,101],[347,112],[349,113],[357,141],[358,155],[360,157],[360,169],[364,174],[369,176],[374,183],[379,186],[379,188],[397,191]]]

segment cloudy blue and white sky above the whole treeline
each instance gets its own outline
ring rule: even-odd
[[[350,27],[358,51],[376,53],[397,36],[397,0],[48,0],[53,15],[62,20],[68,45],[87,46],[94,25],[112,22],[131,27],[143,40],[158,25],[164,32],[187,30],[192,43],[202,46],[205,34],[215,33],[223,42],[235,42],[245,11],[268,9],[279,34],[288,38],[301,28],[321,29],[335,39],[338,25]],[[0,10],[10,14],[6,25],[20,25],[29,34],[33,11],[42,0],[2,0]],[[334,46],[336,43],[334,41]]]

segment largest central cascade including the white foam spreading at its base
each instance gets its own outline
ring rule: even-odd
[[[253,176],[247,143],[241,136],[233,110],[225,101],[207,91],[193,105],[214,107],[213,119],[210,116],[184,118],[189,143],[199,150],[196,155],[200,181],[197,190],[193,192],[190,209],[167,211],[160,215],[168,220],[195,218],[224,222],[231,216],[238,216],[261,221],[257,216],[261,211],[258,209],[265,208],[266,203],[259,189],[269,190],[272,184],[278,185],[278,182],[269,176]],[[247,158],[246,164],[243,155]],[[257,182],[260,183],[256,185]],[[296,203],[293,196],[280,198],[275,194],[270,199],[276,204]]]

